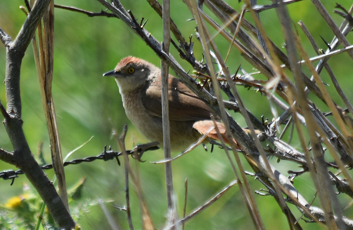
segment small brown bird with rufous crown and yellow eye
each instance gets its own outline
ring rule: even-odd
[[[139,131],[163,145],[161,69],[137,57],[125,57],[113,71],[103,76],[115,78],[125,113]],[[168,86],[170,144],[172,151],[183,151],[201,134],[214,128],[211,109],[177,78],[169,75]],[[225,127],[217,122],[223,137]],[[217,138],[213,129],[208,136]]]

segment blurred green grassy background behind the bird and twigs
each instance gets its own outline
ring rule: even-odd
[[[126,9],[132,11],[138,20],[148,18],[145,29],[157,40],[162,40],[161,18],[157,16],[146,1],[121,0],[121,2]],[[243,7],[242,2],[240,4],[235,0],[227,2],[237,10]],[[334,2],[322,2],[336,24],[340,25],[342,18],[332,13],[335,6]],[[92,12],[105,10],[97,1],[93,0],[60,0],[55,1],[55,4],[74,6]],[[258,4],[270,4],[270,1],[258,1]],[[341,0],[340,4],[349,8],[351,1]],[[19,9],[20,5],[24,5],[22,0],[0,1],[0,27],[12,38],[16,36],[25,20],[25,14]],[[301,1],[288,8],[293,19],[293,26],[299,30],[299,35],[309,55],[315,56],[315,51],[300,31],[297,25],[299,20],[304,22],[319,46],[326,49],[319,35],[330,42],[333,34],[311,2]],[[207,11],[207,9],[205,10]],[[202,48],[195,39],[195,22],[188,20],[191,19],[191,14],[182,1],[171,2],[171,16],[186,39],[193,35],[193,41],[195,42],[194,53],[196,58],[201,60]],[[277,46],[281,47],[284,40],[275,10],[260,13],[260,17],[268,36]],[[250,14],[246,15],[246,18],[252,22]],[[211,31],[212,34],[215,33],[213,30]],[[352,41],[351,35],[348,35],[348,39]],[[215,37],[215,41],[225,57],[229,43],[220,35]],[[174,48],[171,48],[170,52],[186,71],[191,69],[186,61],[180,60]],[[121,20],[106,17],[90,18],[81,13],[55,9],[53,97],[64,157],[68,152],[82,145],[91,137],[93,137],[92,140],[74,152],[69,159],[98,155],[103,151],[104,145],[111,145],[113,150],[119,150],[116,139],[112,138],[112,133],[113,130],[116,130],[118,135],[120,135],[125,123],[128,124],[127,149],[131,149],[134,144],[147,142],[128,121],[114,79],[102,77],[103,72],[113,69],[119,60],[128,55],[148,60],[157,66],[160,65],[160,60],[154,52]],[[5,48],[1,46],[1,79],[5,78],[5,61]],[[239,52],[233,48],[227,61],[231,73],[234,73],[240,64],[249,73],[255,71],[240,56]],[[346,54],[341,54],[331,57],[329,64],[333,68],[346,96],[348,99],[352,99],[352,84],[350,80],[352,60]],[[304,71],[309,73],[306,68],[304,68]],[[321,76],[324,81],[331,84],[325,72]],[[265,80],[261,75],[255,75],[255,78]],[[333,86],[328,87],[330,92],[332,92],[331,96],[339,105],[343,106],[332,88]],[[259,119],[261,115],[269,118],[269,120],[272,119],[273,115],[270,112],[267,98],[261,96],[260,93],[255,93],[252,90],[248,91],[243,87],[238,87],[238,89],[245,106],[253,114]],[[23,128],[30,148],[37,155],[38,146],[43,143],[42,151],[46,161],[50,162],[48,133],[38,90],[38,80],[31,46],[28,48],[22,63],[21,95]],[[312,99],[323,111],[327,111],[327,108],[323,107],[321,102],[314,97]],[[0,87],[0,100],[3,104],[6,103],[4,84]],[[282,113],[282,111],[279,111],[279,113]],[[241,126],[246,126],[239,114],[234,114],[234,118]],[[295,140],[292,145],[300,148],[299,143],[296,143]],[[11,143],[2,125],[0,126],[0,147],[7,151],[12,151]],[[210,146],[208,148],[210,149]],[[140,175],[142,189],[152,219],[158,229],[162,228],[167,214],[164,165],[150,162],[158,161],[162,158],[163,152],[159,150],[145,153],[143,156],[145,163],[136,163],[135,165],[135,162],[132,161]],[[298,170],[297,165],[293,163],[281,161],[277,164],[276,159],[270,160],[285,175],[287,175],[287,170],[289,169]],[[245,161],[244,166],[247,170],[250,170]],[[0,162],[0,171],[5,169],[14,169],[14,167]],[[65,168],[65,172],[69,187],[79,181],[80,178],[87,178],[81,199],[82,203],[95,202],[100,199],[112,201],[107,204],[109,212],[122,229],[128,228],[125,212],[110,206],[110,204],[121,207],[125,205],[124,167],[118,167],[115,161],[98,161],[68,166]],[[53,177],[52,170],[48,170],[46,173],[49,178]],[[210,153],[210,151],[205,152],[202,147],[198,147],[173,162],[173,173],[175,199],[179,205],[180,216],[182,215],[184,204],[184,181],[186,178],[189,181],[187,213],[202,205],[235,178],[224,152],[218,148],[215,148],[214,152]],[[249,177],[249,180],[253,190],[264,188],[261,183],[253,180],[252,177]],[[315,193],[315,188],[308,181],[311,181],[310,176],[305,174],[297,178],[294,185],[310,201]],[[13,186],[10,186],[9,181],[0,181],[0,183],[0,204],[5,204],[12,196],[22,194],[23,186],[28,184],[28,181],[25,176],[20,176],[15,180]],[[134,226],[136,229],[141,229],[139,206],[133,189],[131,189],[130,194],[132,196],[131,205]],[[342,207],[347,204],[348,199],[345,196],[340,196]],[[271,196],[255,195],[255,198],[265,226],[268,229],[288,229],[285,216],[281,213]],[[319,205],[318,201],[315,201],[314,205]],[[80,207],[79,205],[75,206]],[[296,217],[299,217],[300,215],[296,208],[290,207]],[[352,213],[352,208],[350,210],[350,213]],[[349,209],[347,212],[349,213]],[[353,215],[345,214],[347,217],[353,218]],[[78,223],[84,229],[110,229],[107,219],[99,206],[94,206],[87,210],[83,217],[78,220]],[[317,224],[306,224],[302,220],[300,224],[306,228],[320,229]],[[186,229],[205,230],[254,228],[237,185],[207,210],[187,222],[185,227]]]

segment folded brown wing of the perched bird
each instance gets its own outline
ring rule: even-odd
[[[160,82],[156,81],[148,87],[141,99],[150,115],[162,117]],[[210,119],[211,109],[197,98],[188,87],[172,76],[169,76],[168,100],[170,120],[199,121]]]

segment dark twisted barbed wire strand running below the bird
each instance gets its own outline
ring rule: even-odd
[[[140,161],[140,158],[145,151],[156,150],[156,149],[158,149],[157,146],[148,147],[146,149],[144,149],[143,147],[137,146],[133,150],[126,150],[126,154],[132,155],[132,156],[133,156],[133,154],[137,154],[137,159]],[[107,151],[107,146],[104,146],[104,151],[100,155],[95,156],[95,157],[85,157],[82,159],[74,159],[72,161],[66,161],[66,162],[64,162],[64,167],[67,165],[71,165],[71,164],[80,164],[82,162],[93,162],[95,160],[110,161],[114,158],[116,159],[116,161],[118,162],[118,165],[120,166],[120,161],[119,161],[118,157],[121,156],[122,154],[123,154],[123,152],[112,151],[110,147],[109,147],[109,150]],[[46,164],[46,165],[41,166],[41,168],[42,169],[52,169],[53,165]],[[4,180],[12,180],[11,184],[10,184],[10,185],[12,185],[15,178],[17,178],[18,175],[22,175],[22,174],[24,174],[24,172],[20,169],[16,170],[16,171],[12,170],[12,169],[4,170],[4,171],[0,172],[0,178],[2,178]]]

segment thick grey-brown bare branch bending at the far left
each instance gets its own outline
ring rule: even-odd
[[[1,40],[6,48],[6,104],[10,119],[5,119],[4,125],[13,145],[12,163],[27,176],[47,205],[55,222],[63,229],[72,229],[76,225],[70,213],[60,199],[55,187],[40,168],[32,155],[22,127],[22,106],[20,97],[20,68],[25,50],[34,36],[38,23],[48,9],[51,0],[38,0],[28,14],[19,34],[13,42],[1,30]],[[5,41],[5,42],[4,42]]]

